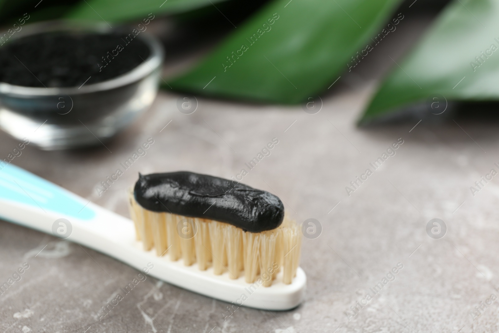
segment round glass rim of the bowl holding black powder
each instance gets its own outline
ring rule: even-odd
[[[105,23],[75,20],[51,20],[27,24],[23,27],[22,30],[13,34],[9,38],[9,41],[29,35],[52,31],[95,32],[105,34],[115,31],[123,32],[123,30],[124,29],[122,27],[111,28]],[[80,87],[27,87],[0,82],[0,94],[16,95],[22,97],[80,95],[97,91],[106,91],[125,86],[148,76],[152,72],[155,72],[157,75],[159,75],[157,69],[161,66],[164,58],[162,45],[154,36],[149,33],[140,32],[136,35],[136,37],[140,38],[149,47],[150,54],[147,59],[144,59],[144,62],[124,74],[101,82],[91,83],[87,85],[83,83]]]

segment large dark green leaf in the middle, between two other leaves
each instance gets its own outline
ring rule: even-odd
[[[275,0],[191,72],[169,83],[212,96],[302,102],[348,69],[351,56],[381,32],[399,2]]]

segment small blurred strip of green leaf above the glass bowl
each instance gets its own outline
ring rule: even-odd
[[[84,0],[66,17],[86,20],[123,22],[147,18],[149,13],[178,14],[225,0]]]

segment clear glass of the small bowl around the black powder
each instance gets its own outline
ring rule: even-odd
[[[9,39],[59,31],[124,32],[95,24],[51,21],[26,25]],[[44,150],[96,145],[111,138],[147,110],[158,92],[163,48],[144,32],[136,38],[149,47],[149,57],[109,80],[60,88],[0,82],[0,128]]]

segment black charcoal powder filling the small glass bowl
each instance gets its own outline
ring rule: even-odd
[[[0,46],[0,82],[27,87],[79,87],[123,75],[146,60],[134,34],[52,31]]]

